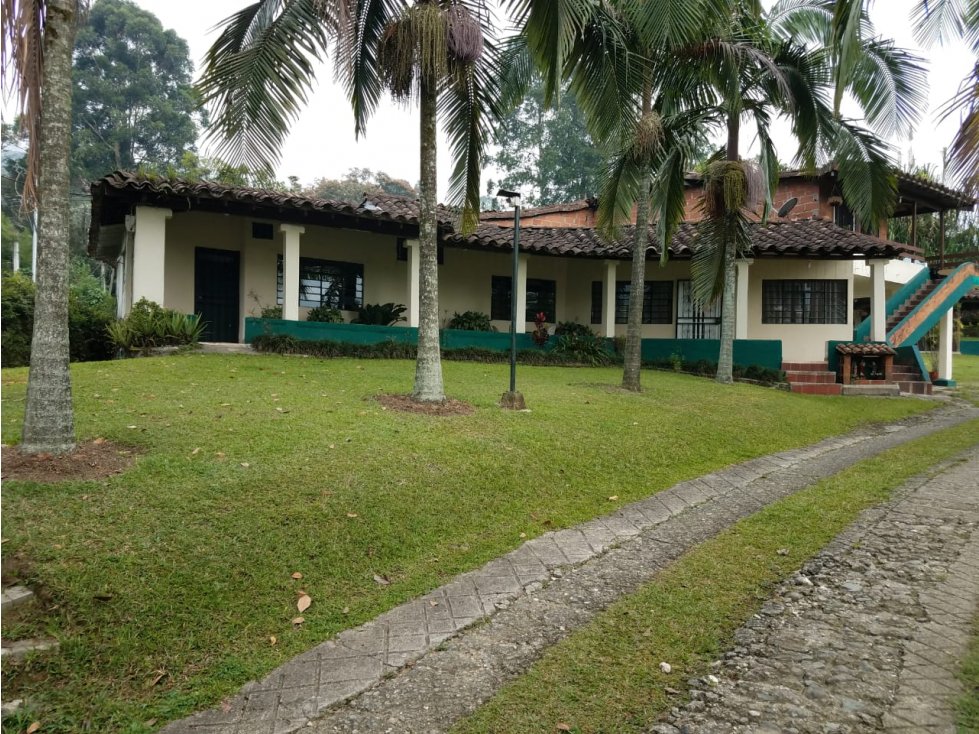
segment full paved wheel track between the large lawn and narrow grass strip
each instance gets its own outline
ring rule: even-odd
[[[681,482],[547,533],[340,633],[246,685],[224,706],[163,731],[445,731],[546,647],[691,547],[855,462],[976,417],[979,409],[954,405],[865,427]],[[480,621],[486,624],[475,625]]]

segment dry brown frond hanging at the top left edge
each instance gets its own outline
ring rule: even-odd
[[[3,0],[2,79],[5,95],[16,97],[20,125],[30,141],[24,173],[25,210],[36,208],[41,124],[41,79],[44,73],[44,0]]]

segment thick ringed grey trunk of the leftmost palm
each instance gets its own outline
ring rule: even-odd
[[[68,371],[68,156],[71,55],[76,0],[48,0],[38,139],[38,254],[34,335],[21,450],[64,453],[75,446]]]

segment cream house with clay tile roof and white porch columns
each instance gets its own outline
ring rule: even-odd
[[[799,193],[800,214],[807,211],[806,196],[822,196]],[[524,213],[515,289],[524,320],[517,332],[532,329],[534,314],[543,312],[552,324],[578,321],[607,337],[624,334],[628,232],[622,241],[601,236],[592,226],[592,203],[545,209]],[[548,219],[554,215],[580,219],[569,226]],[[513,290],[507,218],[488,215],[474,233],[462,234],[455,212],[440,207],[438,216],[443,323],[455,312],[476,310],[507,331]],[[815,364],[813,370],[794,371],[825,372],[832,361],[829,345],[854,338],[858,324],[851,304],[863,287],[861,278],[876,304],[868,336],[885,339],[887,269],[893,260],[918,256],[913,247],[812,214],[753,227],[752,257],[738,266],[736,360],[750,361],[753,345],[775,343],[775,366]],[[655,242],[652,228],[650,233]],[[121,315],[140,298],[202,313],[211,340],[245,340],[248,317],[273,304],[282,306],[284,321],[295,322],[321,304],[341,309],[349,321],[361,305],[396,302],[408,307],[406,327],[418,323],[418,223],[411,200],[372,195],[353,205],[116,172],[92,185],[90,235],[92,254],[118,268]],[[713,344],[716,354],[718,307],[700,308],[691,299],[694,246],[695,229],[687,223],[664,267],[656,247],[649,249],[643,336],[650,349],[657,342],[664,349],[680,345],[692,351]],[[856,274],[855,263],[868,274]],[[939,295],[942,303],[948,300]],[[939,296],[930,298],[936,302]]]

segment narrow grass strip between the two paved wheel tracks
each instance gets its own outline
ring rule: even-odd
[[[892,449],[781,500],[691,550],[656,581],[548,650],[453,734],[648,731],[678,703],[666,688],[708,672],[772,588],[923,468],[979,441],[979,421]],[[787,556],[777,553],[788,548]],[[659,663],[669,662],[666,675]],[[963,676],[976,685],[979,643]],[[966,677],[969,676],[969,677]],[[960,720],[976,723],[979,703]],[[969,718],[971,717],[971,718]],[[969,729],[975,731],[975,729]]]

